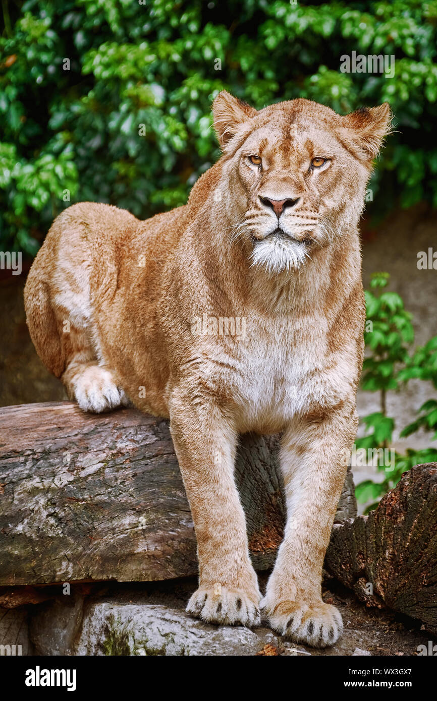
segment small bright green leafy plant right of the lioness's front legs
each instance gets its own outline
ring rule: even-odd
[[[384,450],[391,445],[395,422],[387,416],[387,391],[400,390],[413,378],[431,380],[437,388],[437,336],[410,355],[409,349],[414,341],[412,315],[405,310],[400,295],[385,289],[388,283],[388,273],[374,273],[370,280],[370,290],[365,292],[366,358],[361,383],[364,390],[379,392],[380,409],[363,418],[366,435],[356,440],[356,449]],[[431,440],[435,440],[437,400],[425,402],[418,414],[416,421],[402,430],[401,437],[423,428],[433,430]],[[389,470],[384,464],[378,465],[378,469],[385,473],[382,482],[366,479],[356,486],[356,497],[361,503],[377,500],[396,486],[403,472],[410,470],[413,465],[433,461],[437,461],[437,449],[433,447],[422,450],[408,449],[403,455],[395,452],[394,465],[390,465]],[[374,501],[366,512],[376,506],[377,501]]]

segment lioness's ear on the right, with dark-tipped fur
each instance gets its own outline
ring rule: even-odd
[[[378,155],[384,137],[391,131],[388,102],[379,107],[361,107],[340,119],[340,132],[344,140],[355,147],[358,158],[372,161]]]

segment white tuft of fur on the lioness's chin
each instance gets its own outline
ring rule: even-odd
[[[307,258],[309,254],[302,243],[276,236],[255,243],[251,256],[253,265],[263,266],[271,274],[299,268]]]

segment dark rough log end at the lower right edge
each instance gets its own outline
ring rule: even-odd
[[[437,463],[415,465],[368,517],[335,527],[325,568],[368,606],[437,633]]]

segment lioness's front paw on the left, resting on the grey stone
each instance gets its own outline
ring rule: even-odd
[[[249,596],[237,589],[215,585],[212,589],[200,587],[187,604],[187,613],[206,623],[222,625],[260,625],[261,615],[257,594]]]

